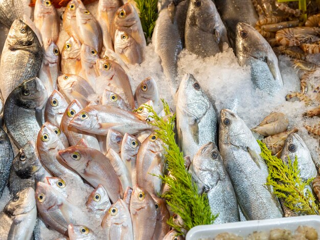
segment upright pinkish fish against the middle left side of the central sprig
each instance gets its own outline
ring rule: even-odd
[[[162,140],[152,133],[142,142],[136,155],[137,184],[153,195],[161,192],[162,180],[157,175],[163,176],[165,173],[164,154]]]

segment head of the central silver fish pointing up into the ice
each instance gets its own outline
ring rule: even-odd
[[[210,101],[192,74],[182,78],[177,92],[177,108],[199,119],[208,110]]]

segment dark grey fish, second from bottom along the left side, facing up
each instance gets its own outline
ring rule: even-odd
[[[13,159],[9,177],[10,193],[15,195],[27,187],[35,189],[35,182],[43,181],[48,175],[40,163],[35,143],[28,141]]]

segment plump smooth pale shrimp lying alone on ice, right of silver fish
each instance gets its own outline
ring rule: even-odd
[[[271,136],[287,130],[289,120],[282,112],[274,112],[266,116],[263,121],[251,130],[263,136]]]

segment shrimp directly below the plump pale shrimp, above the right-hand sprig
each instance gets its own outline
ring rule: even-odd
[[[290,131],[281,132],[276,135],[268,136],[262,139],[262,142],[267,146],[267,148],[271,151],[272,155],[276,155],[281,151],[284,146],[284,142],[286,141],[288,135],[293,132],[298,132],[298,128],[293,128]]]

